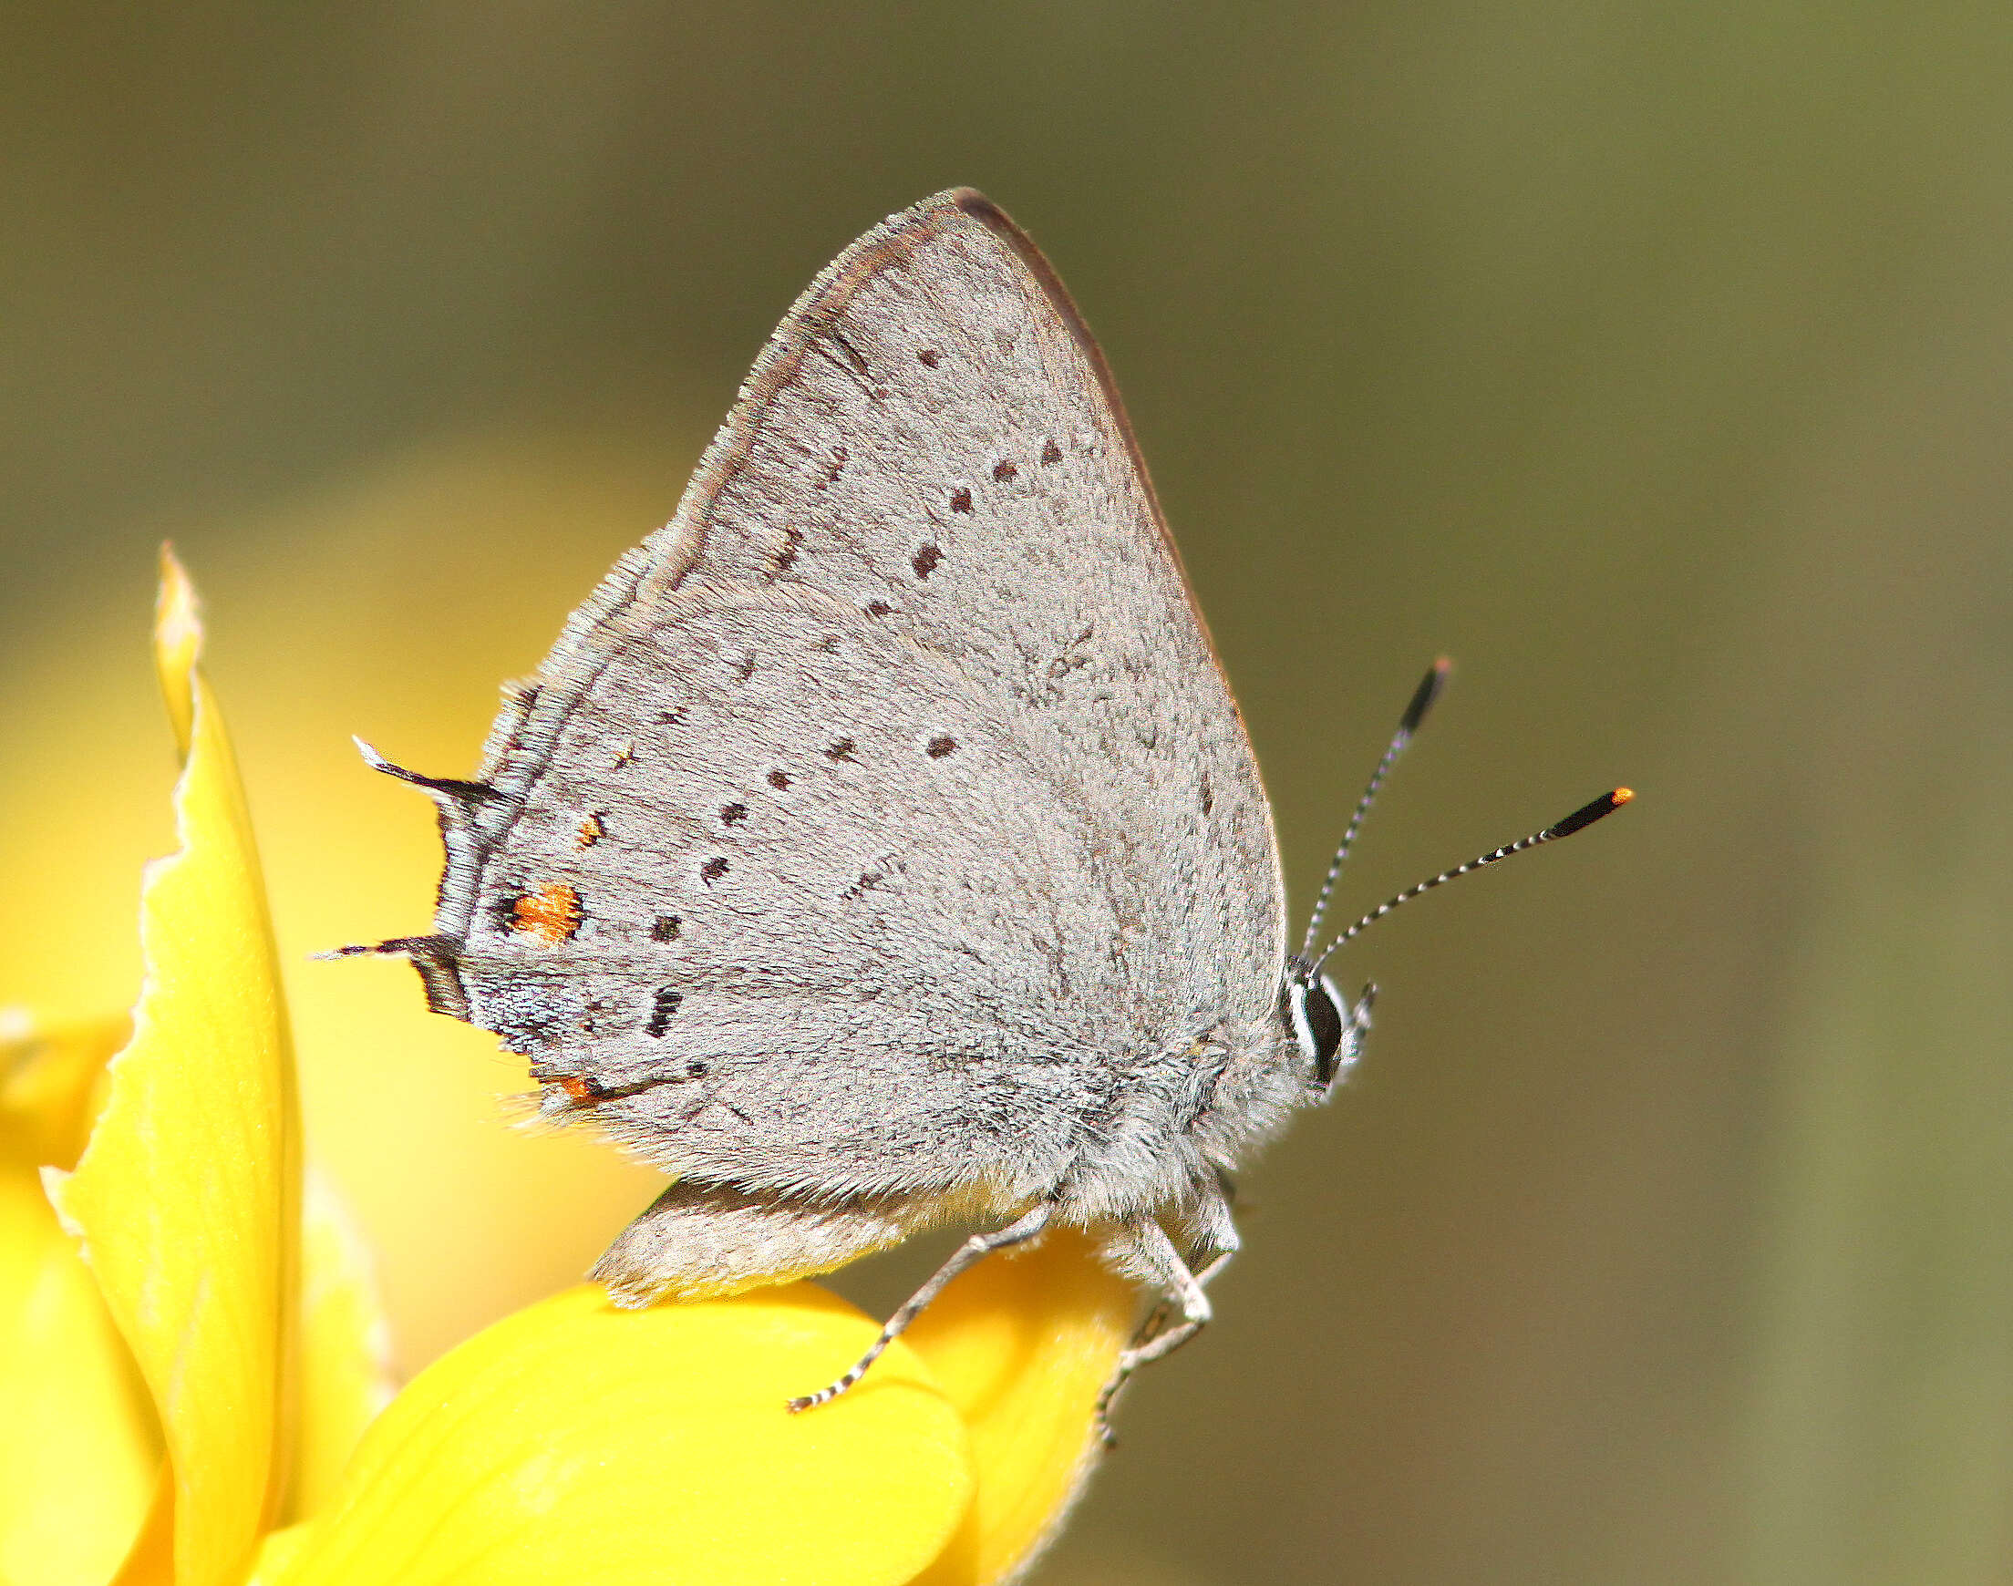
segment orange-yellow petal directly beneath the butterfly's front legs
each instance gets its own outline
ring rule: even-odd
[[[908,1330],[972,1431],[978,1501],[928,1586],[1011,1580],[1061,1528],[1097,1461],[1093,1415],[1137,1296],[1075,1230],[992,1256]]]

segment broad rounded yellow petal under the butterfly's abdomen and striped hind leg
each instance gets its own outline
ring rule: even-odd
[[[809,1284],[616,1310],[556,1294],[435,1361],[272,1586],[906,1582],[958,1530],[964,1427],[914,1355],[823,1409],[876,1322]]]

